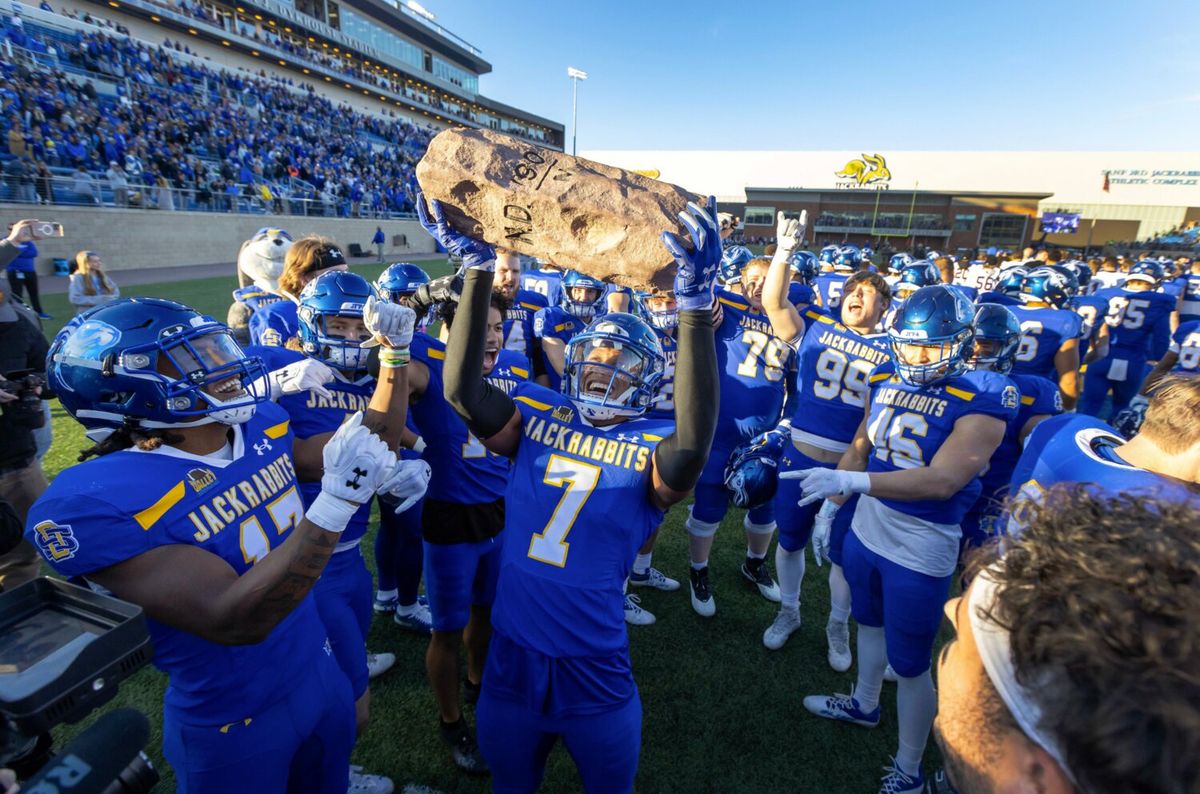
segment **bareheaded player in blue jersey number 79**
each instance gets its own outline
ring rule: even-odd
[[[708,578],[708,555],[730,507],[726,463],[737,447],[779,423],[796,369],[792,349],[775,335],[762,309],[762,287],[769,267],[769,259],[751,259],[742,271],[742,295],[718,293],[721,319],[716,325],[716,360],[721,369],[721,405],[716,440],[696,485],[696,498],[686,522],[691,607],[703,618],[716,613]],[[677,405],[678,396],[677,390]],[[772,504],[750,510],[743,527],[746,557],[742,576],[762,597],[779,602],[779,585],[767,566],[767,551],[775,531]]]

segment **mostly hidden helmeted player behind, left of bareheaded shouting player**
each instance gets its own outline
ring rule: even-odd
[[[389,265],[379,275],[374,293],[378,300],[407,306],[414,293],[428,283],[430,275],[425,270],[400,261]],[[426,317],[416,318],[419,330],[424,331],[426,323]],[[408,415],[407,431],[404,443],[396,455],[402,461],[419,459],[425,450],[425,439],[420,437],[412,413]],[[376,533],[376,571],[379,584],[373,608],[378,614],[391,614],[401,628],[428,636],[433,628],[433,618],[428,601],[418,594],[425,559],[421,542],[424,500],[400,512],[396,511],[398,506],[388,497],[379,499],[379,530]]]

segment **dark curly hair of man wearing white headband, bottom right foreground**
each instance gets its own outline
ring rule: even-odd
[[[1195,503],[1060,485],[1015,542],[968,563],[972,577],[994,566],[988,616],[1079,790],[1200,787],[1196,518]]]

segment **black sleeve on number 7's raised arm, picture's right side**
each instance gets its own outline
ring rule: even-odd
[[[679,312],[677,335],[676,432],[654,451],[654,465],[668,488],[686,492],[708,461],[720,409],[712,309]]]

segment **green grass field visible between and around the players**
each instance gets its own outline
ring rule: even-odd
[[[432,263],[428,263],[432,264]],[[440,275],[437,266],[427,267]],[[378,266],[355,267],[373,278]],[[157,295],[188,303],[223,318],[233,278],[180,281],[122,290],[126,295]],[[46,300],[47,309],[70,317],[62,295]],[[47,329],[48,333],[56,327]],[[53,476],[71,465],[85,439],[55,404],[54,446],[46,459]],[[685,581],[688,572],[685,505],[667,516],[654,565]],[[373,566],[372,525],[362,545]],[[824,622],[828,613],[828,569],[809,561],[802,594],[804,627],[779,651],[762,645],[762,632],[775,604],[762,600],[742,581],[738,566],[745,549],[742,511],[731,510],[718,534],[710,561],[716,615],[697,616],[689,604],[686,584],[677,593],[642,594],[642,606],[658,615],[653,626],[630,627],[634,670],[644,708],[640,792],[875,792],[881,766],[895,752],[895,687],[884,686],[883,722],[868,730],[834,724],[809,715],[800,700],[818,692],[848,692],[850,673],[838,674],[826,663]],[[772,564],[772,569],[774,565]],[[458,774],[437,734],[438,715],[425,680],[426,640],[402,632],[390,618],[376,618],[368,645],[392,651],[397,663],[372,684],[372,720],[359,740],[354,763],[390,776],[397,783],[420,783],[443,792],[485,792],[486,780]],[[148,748],[163,782],[173,776],[162,758],[162,692],[166,676],[144,669],[121,685],[107,708],[127,705],[150,717],[154,735]],[[468,720],[473,715],[468,706]],[[65,740],[89,724],[59,729]],[[932,742],[931,742],[932,744]],[[930,750],[926,772],[936,763]],[[578,790],[570,758],[560,748],[551,757],[545,792]]]

